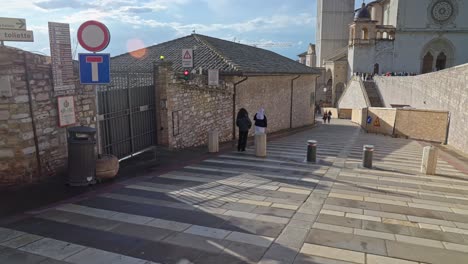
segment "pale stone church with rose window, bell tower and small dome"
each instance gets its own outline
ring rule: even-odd
[[[318,0],[318,12],[317,66],[332,104],[355,73],[424,74],[468,62],[468,1],[377,0],[354,10],[354,0]],[[339,14],[339,24],[328,23]]]

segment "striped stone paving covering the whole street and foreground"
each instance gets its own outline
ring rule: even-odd
[[[333,120],[267,158],[223,153],[30,212],[0,228],[0,263],[468,263],[468,175],[443,159],[421,175],[422,148]]]

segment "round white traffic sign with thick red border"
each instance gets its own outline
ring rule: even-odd
[[[100,52],[109,45],[109,29],[101,22],[86,21],[78,28],[78,42],[88,51]]]

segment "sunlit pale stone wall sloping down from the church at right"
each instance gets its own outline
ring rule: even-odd
[[[414,77],[377,77],[386,107],[450,112],[448,144],[468,153],[468,64]]]

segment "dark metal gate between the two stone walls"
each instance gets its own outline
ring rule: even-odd
[[[100,145],[104,154],[124,159],[156,144],[153,73],[111,73],[98,88]]]

